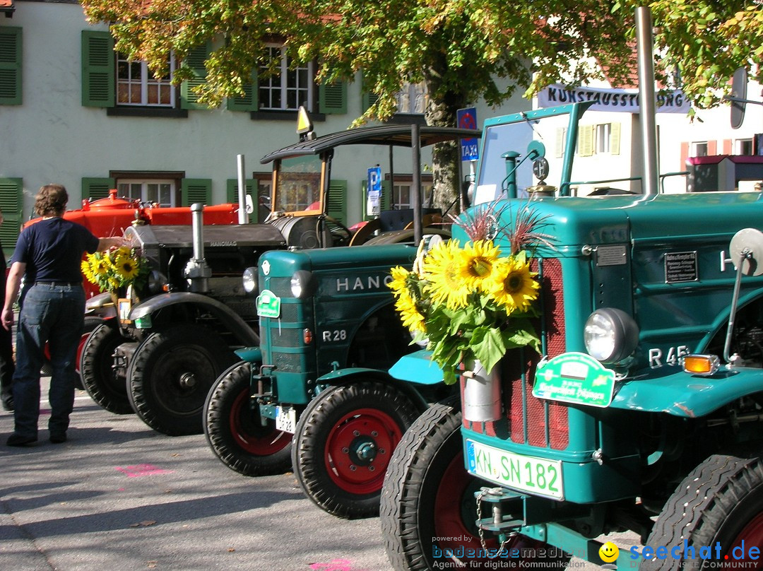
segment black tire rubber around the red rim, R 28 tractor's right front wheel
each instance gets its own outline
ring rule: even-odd
[[[371,399],[370,402],[364,402]],[[355,408],[365,408],[384,402],[401,419],[401,431],[412,424],[419,410],[404,392],[381,382],[352,382],[335,386],[321,392],[302,413],[297,423],[295,440],[291,447],[291,463],[305,495],[315,505],[340,518],[368,518],[378,515],[379,495],[356,495],[348,501],[349,494],[336,489],[336,484],[327,485],[324,477],[324,452],[315,450],[314,444],[320,436],[316,428],[326,424],[325,417],[330,411],[353,404]],[[329,412],[327,412],[327,409]],[[348,409],[349,411],[350,409]],[[325,428],[325,427],[324,427]],[[325,443],[322,443],[325,444]],[[344,496],[344,497],[343,497]]]

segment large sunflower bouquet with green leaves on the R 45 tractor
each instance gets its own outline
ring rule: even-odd
[[[459,240],[440,240],[426,252],[420,247],[413,270],[391,269],[395,308],[414,342],[427,343],[447,384],[456,382],[459,366],[472,369],[475,360],[490,371],[509,349],[540,350],[531,322],[540,284],[523,248],[542,237],[532,232],[539,221],[523,218],[533,224],[518,226],[523,235],[510,236],[512,251],[505,254],[485,237],[485,221],[497,218],[480,211],[475,216],[460,221],[473,238],[463,246]]]

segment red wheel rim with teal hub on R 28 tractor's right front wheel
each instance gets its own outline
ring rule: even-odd
[[[344,415],[326,440],[329,477],[345,492],[378,492],[402,436],[398,423],[376,408],[360,408]]]

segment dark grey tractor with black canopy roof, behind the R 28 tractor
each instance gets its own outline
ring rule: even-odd
[[[475,135],[417,129],[424,144]],[[259,346],[256,279],[251,279],[259,256],[287,247],[336,247],[353,239],[327,215],[330,201],[343,198],[329,192],[334,148],[405,145],[406,140],[410,146],[410,133],[410,126],[366,127],[305,137],[266,156],[262,162],[273,163],[273,184],[263,224],[130,227],[126,235],[143,248],[154,279],[138,300],[124,302],[119,327],[113,321],[99,327],[85,344],[82,368],[92,379],[96,402],[118,413],[136,411],[163,434],[203,431],[205,399],[214,380],[236,362],[233,350]],[[414,229],[403,230],[396,240],[413,234]]]

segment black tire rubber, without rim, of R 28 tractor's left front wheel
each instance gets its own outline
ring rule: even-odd
[[[204,436],[221,462],[243,476],[282,474],[291,467],[291,442],[269,456],[254,456],[228,441],[233,437],[227,402],[236,398],[242,382],[249,386],[249,379],[250,363],[236,363],[217,377],[204,403]]]

